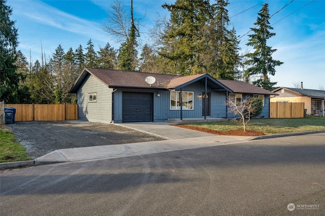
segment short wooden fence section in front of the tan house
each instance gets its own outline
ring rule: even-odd
[[[303,118],[304,106],[303,102],[271,102],[270,118]]]

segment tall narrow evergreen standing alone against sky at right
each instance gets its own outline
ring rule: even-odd
[[[246,54],[248,60],[245,62],[250,67],[247,69],[246,74],[248,76],[256,76],[257,80],[253,81],[253,84],[272,91],[276,82],[271,82],[269,74],[275,75],[275,66],[280,66],[283,62],[274,60],[272,54],[276,49],[267,46],[267,40],[270,39],[275,33],[270,32],[273,27],[269,22],[269,5],[264,4],[263,8],[259,11],[257,21],[254,23],[255,28],[251,28],[254,32],[248,35],[250,37],[248,46],[252,46],[255,51],[253,53]]]

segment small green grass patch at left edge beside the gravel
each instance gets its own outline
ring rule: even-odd
[[[0,125],[0,163],[32,160],[15,135],[5,126]]]

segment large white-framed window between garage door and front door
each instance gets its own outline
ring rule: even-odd
[[[182,92],[182,110],[193,110],[193,92]],[[181,92],[171,91],[171,110],[181,109]]]

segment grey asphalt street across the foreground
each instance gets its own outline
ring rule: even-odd
[[[325,133],[4,170],[0,186],[1,215],[325,215]]]

